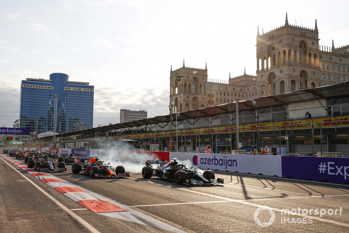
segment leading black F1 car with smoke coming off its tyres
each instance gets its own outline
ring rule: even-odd
[[[157,168],[153,168],[151,164],[157,164]],[[224,180],[217,178],[211,170],[199,173],[195,168],[187,168],[184,164],[178,164],[176,159],[167,160],[148,160],[146,166],[142,168],[142,176],[150,178],[152,176],[159,177],[163,180],[176,181],[177,184],[195,184],[195,185],[215,185],[223,184]]]

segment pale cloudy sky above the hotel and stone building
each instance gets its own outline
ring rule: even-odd
[[[20,83],[66,73],[95,86],[94,127],[120,109],[169,113],[170,68],[212,79],[256,73],[256,35],[290,24],[320,45],[349,43],[347,1],[0,0],[0,126],[19,117]]]

